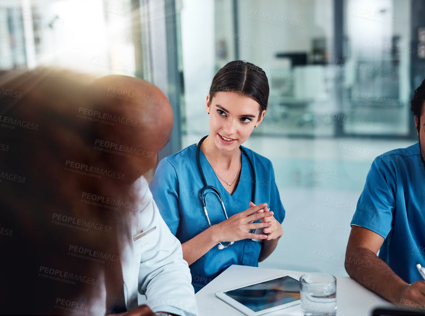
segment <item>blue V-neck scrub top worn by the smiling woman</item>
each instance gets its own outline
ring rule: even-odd
[[[256,192],[253,202],[267,203],[274,213],[273,216],[282,223],[285,210],[280,202],[272,163],[250,149],[245,148],[245,150],[252,160],[257,178],[252,181],[249,162],[242,153],[241,177],[233,195],[224,189],[204,153],[200,151],[201,166],[208,185],[218,189],[223,198],[227,216],[230,217],[249,208],[255,182]],[[222,178],[225,177],[222,176]],[[196,144],[162,159],[150,182],[149,188],[164,221],[182,244],[209,227],[200,199],[200,191],[203,187],[204,183],[196,161]],[[211,224],[224,221],[226,218],[218,198],[210,193],[206,200]],[[261,245],[251,239],[242,239],[222,250],[219,250],[217,246],[213,247],[189,266],[195,292],[232,264],[258,267]],[[197,249],[190,251],[196,252]]]

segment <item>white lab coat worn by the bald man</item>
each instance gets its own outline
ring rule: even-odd
[[[156,227],[146,238],[142,253],[136,254],[134,244],[128,242],[128,234],[119,234],[121,256],[128,258],[127,264],[122,264],[124,279],[124,296],[127,310],[136,307],[137,291],[146,295],[147,305],[153,310],[174,313],[181,316],[197,315],[195,292],[192,277],[187,262],[183,259],[180,241],[170,232],[167,224],[159,213],[153,201],[144,177],[134,184],[139,192],[136,203],[138,212],[132,218],[131,237]],[[125,227],[124,225],[120,225]],[[155,233],[153,236],[150,234]],[[150,241],[147,243],[147,241]],[[146,244],[147,243],[147,244]],[[140,248],[139,248],[140,249]],[[140,250],[139,250],[140,252]]]

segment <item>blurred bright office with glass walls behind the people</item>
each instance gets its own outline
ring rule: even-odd
[[[260,266],[346,276],[371,162],[416,143],[410,100],[425,77],[424,14],[422,0],[2,0],[0,67],[155,83],[174,111],[163,158],[208,134],[218,69],[237,59],[260,66],[269,109],[245,146],[272,161],[286,209],[283,237]]]

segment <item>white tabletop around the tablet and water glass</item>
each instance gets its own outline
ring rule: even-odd
[[[198,305],[199,316],[243,316],[244,314],[231,307],[221,299],[215,297],[215,293],[232,290],[245,284],[261,282],[278,276],[289,275],[299,280],[303,272],[265,269],[259,267],[248,267],[232,265],[214,280],[208,283],[195,294]],[[347,276],[336,276],[337,278],[337,316],[370,316],[371,310],[377,306],[393,306],[390,302],[372,293],[353,279]],[[296,315],[300,316],[301,305],[295,305],[267,316]]]

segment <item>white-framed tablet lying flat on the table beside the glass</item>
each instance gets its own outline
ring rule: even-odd
[[[258,316],[300,304],[300,281],[279,276],[218,292],[215,296],[247,316]]]

